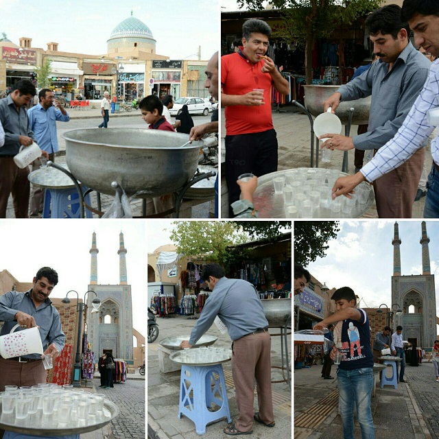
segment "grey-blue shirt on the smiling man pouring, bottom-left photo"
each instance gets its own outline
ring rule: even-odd
[[[62,351],[66,342],[66,336],[62,332],[60,314],[49,298],[45,300],[38,308],[35,307],[34,301],[30,297],[31,290],[19,293],[10,291],[0,296],[0,320],[3,320],[3,328],[0,335],[10,333],[16,325],[15,314],[18,311],[29,314],[35,319],[36,324],[40,327],[41,342],[45,351],[49,344],[55,343],[58,351]],[[15,331],[20,331],[18,328]],[[25,355],[25,358],[40,358],[39,354]]]

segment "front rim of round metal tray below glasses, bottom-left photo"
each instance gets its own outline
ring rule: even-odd
[[[56,413],[43,416],[43,410],[40,409],[35,414],[28,415],[25,419],[16,419],[14,413],[1,414],[0,429],[33,436],[68,436],[102,429],[118,415],[119,407],[111,401],[104,400],[102,414],[98,412],[97,416],[88,416],[88,419],[84,420],[75,418],[71,420],[71,426],[69,427],[58,424]]]

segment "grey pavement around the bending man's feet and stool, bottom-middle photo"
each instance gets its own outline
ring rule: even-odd
[[[158,343],[166,337],[176,335],[190,335],[192,327],[197,320],[188,319],[187,316],[175,316],[171,318],[157,318],[159,335],[158,339],[147,346],[147,412],[148,412],[148,438],[150,439],[217,439],[226,438],[223,432],[228,425],[226,418],[206,427],[206,433],[202,436],[196,434],[195,424],[189,418],[182,416],[178,419],[178,401],[180,394],[180,370],[177,372],[162,373],[158,365]],[[272,335],[272,367],[281,366],[281,337],[274,336],[279,329],[270,329]],[[206,335],[218,337],[215,347],[229,348],[231,341],[228,335],[222,335],[215,325],[206,332]],[[289,338],[288,352],[291,353],[291,338]],[[237,418],[238,410],[235,401],[235,388],[232,379],[230,361],[223,364],[224,377],[228,394],[230,416],[233,421]],[[272,368],[272,381],[283,379],[281,370]],[[273,383],[273,408],[276,426],[268,428],[254,423],[253,434],[249,437],[257,439],[286,439],[292,437],[292,395],[289,385]],[[257,396],[255,394],[254,412],[258,412]]]

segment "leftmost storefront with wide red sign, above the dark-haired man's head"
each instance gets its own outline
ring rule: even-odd
[[[3,60],[6,61],[6,90],[20,80],[29,80],[35,70],[36,51],[16,47],[2,48]]]

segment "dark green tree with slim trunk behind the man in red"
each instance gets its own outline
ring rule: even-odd
[[[239,8],[263,9],[264,0],[237,0]],[[318,38],[331,35],[335,27],[350,25],[360,16],[379,7],[382,0],[271,0],[281,11],[285,27],[274,37],[288,43],[298,40],[305,45],[305,73],[307,84],[312,83],[311,53]]]

